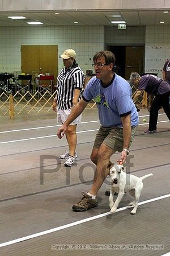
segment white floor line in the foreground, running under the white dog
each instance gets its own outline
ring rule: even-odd
[[[169,197],[169,196],[170,196],[170,194],[164,195],[164,196],[155,197],[155,198],[153,198],[153,199],[149,199],[149,200],[140,202],[139,205],[151,203],[151,202],[158,201],[158,200],[161,200],[161,199],[165,199],[165,198],[167,198],[167,197]],[[128,209],[128,208],[132,208],[132,207],[130,207],[130,206],[128,206],[128,207],[122,207],[122,208],[117,209],[116,212],[121,212],[122,210],[126,210],[126,209]],[[62,229],[66,229],[66,228],[70,228],[70,227],[72,227],[72,226],[76,226],[76,225],[82,224],[82,223],[84,223],[84,222],[96,220],[97,218],[105,217],[105,216],[107,216],[107,215],[109,215],[109,214],[115,214],[115,213],[112,213],[112,212],[110,211],[110,212],[105,212],[105,213],[103,213],[103,214],[96,215],[96,216],[94,216],[94,217],[84,218],[84,220],[75,221],[75,222],[72,222],[72,223],[70,223],[70,224],[66,224],[66,225],[63,225],[63,226],[58,226],[57,228],[45,230],[45,231],[42,231],[42,232],[39,232],[39,233],[36,233],[36,234],[32,234],[32,235],[29,235],[29,236],[26,236],[26,237],[20,237],[20,238],[18,238],[18,239],[11,240],[11,241],[8,241],[8,242],[5,242],[5,243],[0,243],[0,247],[12,245],[12,244],[18,243],[18,242],[23,242],[23,241],[25,241],[25,240],[28,240],[28,239],[31,239],[31,238],[35,238],[35,237],[44,236],[45,234],[50,234],[50,233],[57,232],[57,231],[62,230]]]

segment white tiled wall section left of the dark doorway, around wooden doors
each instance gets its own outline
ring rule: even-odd
[[[0,72],[20,71],[21,45],[58,45],[58,55],[73,48],[85,73],[92,69],[95,52],[104,49],[103,26],[0,27],[0,35]],[[61,68],[62,59],[59,58],[58,71]]]

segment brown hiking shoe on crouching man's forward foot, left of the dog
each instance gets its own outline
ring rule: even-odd
[[[91,196],[88,196],[87,193],[84,192],[82,192],[82,195],[82,200],[80,200],[77,204],[74,204],[72,207],[75,212],[83,212],[84,210],[88,210],[97,206],[97,199],[92,199]]]

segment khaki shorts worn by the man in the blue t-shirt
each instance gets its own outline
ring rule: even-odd
[[[131,142],[133,142],[137,126],[131,127]],[[114,151],[121,152],[124,146],[123,128],[122,127],[103,127],[100,126],[99,131],[96,134],[96,139],[93,148],[99,148],[104,143],[108,147],[111,147]]]

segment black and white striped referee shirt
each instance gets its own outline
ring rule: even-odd
[[[69,69],[63,68],[57,77],[57,108],[70,109],[73,106],[74,89],[82,90],[83,83],[84,73],[77,64]]]

